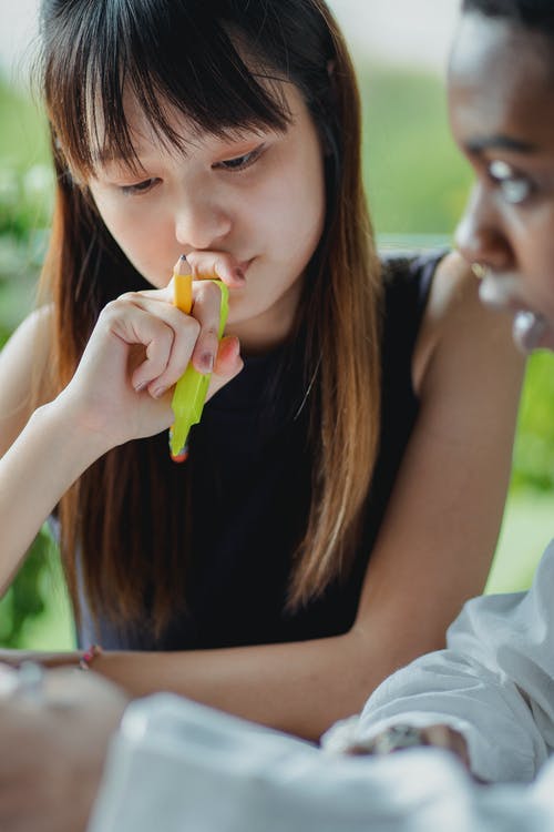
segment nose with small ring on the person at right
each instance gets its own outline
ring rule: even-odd
[[[479,184],[473,186],[458,224],[455,244],[468,263],[480,263],[493,271],[512,266],[512,248],[501,219]]]

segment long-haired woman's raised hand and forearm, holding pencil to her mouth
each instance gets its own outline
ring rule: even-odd
[[[228,255],[222,262],[230,268]],[[225,278],[230,288],[244,284],[244,278],[220,274],[216,265],[225,271],[216,258],[212,266],[206,264],[208,274]],[[44,519],[90,465],[122,443],[173,424],[172,387],[191,359],[204,373],[214,365],[208,397],[240,372],[237,338],[217,341],[219,287],[196,281],[193,291],[192,315],[173,305],[172,283],[163,290],[127,293],[107,304],[68,386],[34,410],[27,425],[17,426],[18,419],[12,419],[7,436],[13,438],[11,444],[6,440],[0,464],[0,593]],[[45,369],[49,339],[43,329],[34,318],[16,336],[8,373],[12,378],[29,376],[32,364],[22,356],[34,352],[31,344],[43,346]],[[13,409],[20,396],[27,393],[23,396],[23,388],[12,385],[8,402]],[[7,660],[17,662],[17,657]]]

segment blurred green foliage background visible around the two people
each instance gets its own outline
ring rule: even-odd
[[[362,67],[366,183],[379,245],[449,244],[471,181],[432,73]],[[0,344],[32,307],[51,210],[45,131],[29,97],[0,77]],[[530,362],[514,469],[488,591],[526,588],[554,532],[554,358]],[[73,646],[58,552],[42,530],[0,601],[0,643]]]

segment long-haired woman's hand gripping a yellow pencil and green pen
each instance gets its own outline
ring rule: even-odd
[[[208,274],[222,277],[219,260],[204,262]],[[228,271],[225,277],[232,288],[244,284]],[[126,293],[102,310],[57,404],[70,407],[81,428],[101,436],[106,450],[172,425],[173,386],[188,362],[213,374],[208,398],[240,372],[237,338],[217,341],[219,288],[211,281],[195,281],[193,295],[191,315],[173,305],[173,281],[163,290]]]

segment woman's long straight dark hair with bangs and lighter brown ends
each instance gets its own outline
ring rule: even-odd
[[[94,159],[135,163],[124,92],[160,141],[181,146],[164,104],[201,131],[286,129],[281,81],[301,92],[325,149],[326,229],[310,262],[297,326],[315,448],[311,509],[290,576],[291,608],[322,592],[353,557],[379,436],[380,268],[360,163],[353,69],[322,0],[43,0],[40,81],[52,131],[57,204],[42,286],[55,307],[55,384],[74,373],[100,310],[145,287],[89,196]],[[79,613],[75,552],[94,612],[144,619],[160,633],[186,597],[187,466],[166,437],[115,448],[63,498],[62,554]],[[183,519],[184,517],[184,519]],[[286,554],[284,554],[286,557]],[[150,592],[150,595],[148,595]],[[144,622],[144,621],[143,621]]]

